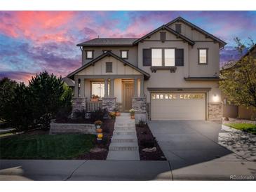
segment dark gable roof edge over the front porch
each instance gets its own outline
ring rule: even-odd
[[[91,65],[94,65],[96,62],[104,59],[105,57],[114,57],[116,60],[118,60],[119,62],[122,62],[124,65],[127,65],[128,67],[135,69],[135,71],[140,72],[140,74],[143,74],[145,76],[145,78],[149,78],[150,75],[143,71],[142,69],[135,67],[133,64],[130,64],[130,62],[127,62],[126,60],[123,60],[121,57],[115,55],[112,52],[107,51],[106,53],[103,53],[102,55],[100,55],[99,57],[95,58],[94,60],[88,62],[87,64],[84,64],[82,67],[80,67],[79,69],[76,69],[75,71],[73,71],[71,74],[68,74],[67,77],[68,78],[72,78],[74,79],[74,75],[78,74],[80,71],[82,71],[83,69],[86,69],[87,67],[90,67]]]

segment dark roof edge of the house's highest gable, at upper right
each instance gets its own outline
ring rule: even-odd
[[[191,27],[191,29],[195,29],[197,30],[198,32],[206,35],[206,37],[210,38],[210,39],[213,39],[214,41],[217,41],[218,43],[220,43],[220,46],[223,47],[225,46],[227,43],[222,41],[221,39],[217,38],[216,36],[214,36],[213,34],[210,34],[208,32],[206,32],[205,30],[201,29],[200,27],[194,25],[193,23],[189,22],[188,20],[185,20],[184,18],[182,17],[178,17],[174,20],[171,20],[170,22],[168,22],[166,25],[167,26],[170,26],[172,25],[173,23],[175,22],[183,22],[185,25],[188,25],[189,27]]]

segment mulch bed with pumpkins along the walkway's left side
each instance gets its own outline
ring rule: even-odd
[[[105,160],[107,158],[107,153],[109,153],[109,144],[114,131],[114,119],[105,119],[102,124],[103,139],[102,143],[98,144],[95,139],[95,150],[91,150],[79,156],[76,159],[86,159],[86,160]],[[99,150],[99,152],[97,152]],[[96,151],[96,152],[95,152]]]

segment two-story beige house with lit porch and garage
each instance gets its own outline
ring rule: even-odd
[[[82,66],[68,75],[75,81],[73,110],[118,106],[135,109],[136,121],[221,120],[225,44],[180,17],[139,39],[79,43]],[[91,100],[95,95],[98,102]]]

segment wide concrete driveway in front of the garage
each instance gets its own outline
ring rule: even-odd
[[[149,128],[170,163],[173,179],[229,179],[232,174],[256,177],[255,161],[223,145],[220,136],[229,132],[220,123],[150,121]]]

